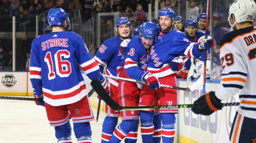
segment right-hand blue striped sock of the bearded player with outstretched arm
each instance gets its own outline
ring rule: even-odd
[[[163,122],[162,137],[163,143],[173,143],[175,135],[176,117],[174,113],[161,113]]]

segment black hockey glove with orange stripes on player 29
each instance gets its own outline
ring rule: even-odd
[[[195,102],[191,110],[195,114],[211,115],[214,111],[218,111],[223,108],[223,103],[215,96],[214,91],[210,91],[207,94],[200,96]]]

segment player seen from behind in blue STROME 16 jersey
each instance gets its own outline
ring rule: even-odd
[[[38,36],[31,45],[30,80],[35,97],[44,95],[44,101],[36,104],[45,102],[58,143],[72,143],[70,116],[77,141],[92,142],[89,121],[94,117],[77,63],[91,80],[99,80],[108,92],[107,80],[100,74],[82,37],[65,31],[69,25],[68,14],[61,8],[51,9],[47,19],[52,32]]]

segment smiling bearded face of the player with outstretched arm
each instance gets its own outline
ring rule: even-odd
[[[170,32],[172,30],[173,23],[174,23],[174,21],[172,21],[171,17],[160,16],[160,18],[159,18],[159,25],[160,25],[163,33]]]

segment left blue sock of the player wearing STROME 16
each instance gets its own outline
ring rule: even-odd
[[[67,123],[60,125],[60,126],[55,126],[55,137],[57,139],[63,138],[63,137],[68,137],[71,136],[71,125],[70,122],[68,121]]]

